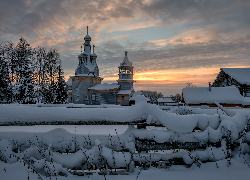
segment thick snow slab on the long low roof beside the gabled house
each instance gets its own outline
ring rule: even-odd
[[[187,87],[182,89],[184,101],[187,104],[212,104],[215,101],[218,103],[227,104],[242,104],[243,96],[236,87]]]

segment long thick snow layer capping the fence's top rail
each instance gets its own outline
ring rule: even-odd
[[[65,107],[30,107],[30,106],[9,106],[1,105],[0,123],[41,123],[41,122],[89,122],[89,121],[109,121],[109,122],[133,122],[147,119],[151,115],[150,121],[162,124],[169,130],[177,133],[192,132],[195,127],[205,130],[208,126],[213,129],[218,128],[219,122],[223,119],[233,121],[239,131],[243,130],[249,112],[238,112],[233,117],[218,114],[187,114],[177,115],[162,111],[155,105],[147,104],[144,96],[135,98],[136,105],[127,108],[65,108]],[[180,108],[181,110],[181,108]],[[15,113],[11,113],[15,112]]]

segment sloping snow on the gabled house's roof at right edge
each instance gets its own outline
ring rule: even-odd
[[[250,85],[250,68],[221,68],[241,84]]]

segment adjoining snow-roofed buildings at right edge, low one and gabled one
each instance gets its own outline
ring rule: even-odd
[[[250,68],[221,68],[209,87],[182,89],[182,103],[188,106],[250,107]]]

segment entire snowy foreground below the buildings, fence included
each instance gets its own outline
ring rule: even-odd
[[[0,105],[2,125],[143,121],[165,126],[0,126],[0,179],[250,177],[249,109],[176,107],[166,112],[143,100],[136,102],[126,108]],[[159,150],[169,144],[181,148]],[[141,151],[143,148],[151,150]]]

